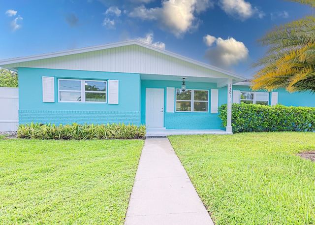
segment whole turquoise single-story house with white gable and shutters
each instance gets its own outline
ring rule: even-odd
[[[291,100],[282,91],[251,92],[243,76],[139,40],[1,60],[0,67],[19,73],[19,124],[222,129],[218,107],[227,103],[230,133],[232,102]]]

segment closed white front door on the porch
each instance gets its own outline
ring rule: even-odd
[[[146,88],[146,126],[164,127],[164,89]]]

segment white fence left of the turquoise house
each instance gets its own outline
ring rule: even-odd
[[[0,131],[17,130],[19,125],[19,89],[0,88]]]

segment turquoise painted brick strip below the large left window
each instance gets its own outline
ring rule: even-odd
[[[107,124],[124,123],[140,125],[140,112],[128,111],[66,111],[66,110],[19,110],[19,124]]]

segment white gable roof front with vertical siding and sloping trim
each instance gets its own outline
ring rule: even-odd
[[[231,78],[234,81],[245,79],[238,74],[139,40],[0,60],[0,67],[13,71],[17,71],[18,67],[36,67],[131,72],[140,73],[143,77],[148,77],[148,74],[205,77],[217,78],[217,83],[222,82],[221,78]]]

